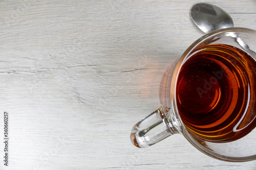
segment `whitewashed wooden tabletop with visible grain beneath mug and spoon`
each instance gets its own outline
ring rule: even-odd
[[[204,35],[200,1],[0,1],[0,169],[256,169],[210,158],[182,135],[146,149],[132,126],[159,106],[163,72]],[[204,1],[211,3],[212,1]],[[256,2],[214,1],[256,29]]]

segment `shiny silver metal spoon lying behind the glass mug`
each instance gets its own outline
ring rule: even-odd
[[[223,9],[211,4],[196,4],[191,8],[190,15],[198,28],[204,33],[234,27],[230,15]],[[239,45],[256,58],[256,53],[238,36],[238,33],[230,33],[227,36],[235,38]]]

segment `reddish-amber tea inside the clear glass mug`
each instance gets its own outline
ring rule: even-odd
[[[187,130],[204,140],[229,142],[256,126],[256,62],[222,44],[194,52],[178,76],[176,99]]]

